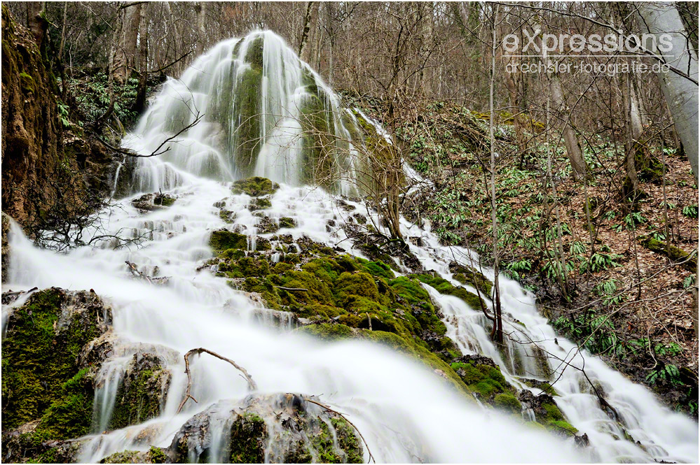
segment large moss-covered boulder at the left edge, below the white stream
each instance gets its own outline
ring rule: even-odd
[[[111,309],[93,292],[52,287],[35,292],[8,316],[2,343],[2,429],[37,421],[39,438],[77,438],[92,424],[91,375],[85,345],[111,323]]]

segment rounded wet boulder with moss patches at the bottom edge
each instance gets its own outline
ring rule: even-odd
[[[215,435],[224,437],[220,447],[214,443]],[[175,434],[168,452],[176,463],[234,464],[355,464],[363,462],[364,453],[359,436],[345,418],[299,394],[221,401],[188,420]]]

